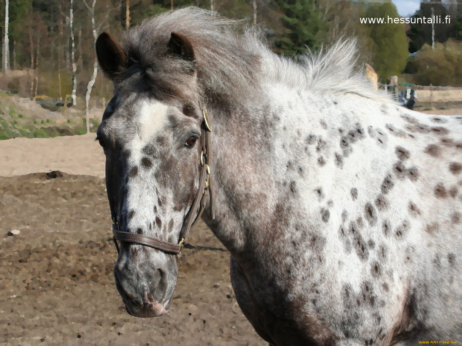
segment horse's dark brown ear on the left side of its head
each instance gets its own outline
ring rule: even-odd
[[[117,73],[127,67],[127,54],[107,32],[100,34],[96,40],[96,56],[99,66],[110,79],[116,78]]]

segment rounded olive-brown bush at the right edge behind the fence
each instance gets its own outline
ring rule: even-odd
[[[425,44],[413,59],[413,83],[419,85],[462,86],[462,42],[448,40]]]

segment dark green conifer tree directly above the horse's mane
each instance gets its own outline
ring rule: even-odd
[[[274,39],[275,51],[295,56],[316,50],[324,41],[328,24],[315,0],[276,0],[283,32]]]

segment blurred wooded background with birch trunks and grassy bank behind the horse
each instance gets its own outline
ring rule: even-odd
[[[95,131],[112,95],[97,35],[120,39],[145,18],[189,5],[260,25],[271,49],[292,59],[356,36],[377,87],[407,98],[415,89],[415,107],[462,101],[462,0],[0,0],[0,139]],[[443,23],[371,23],[432,16]]]

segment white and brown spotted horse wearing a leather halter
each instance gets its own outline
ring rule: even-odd
[[[353,39],[294,61],[195,7],[122,43],[102,33],[96,52],[114,84],[97,140],[129,314],[168,312],[205,209],[270,345],[462,338],[462,117],[374,90]]]

